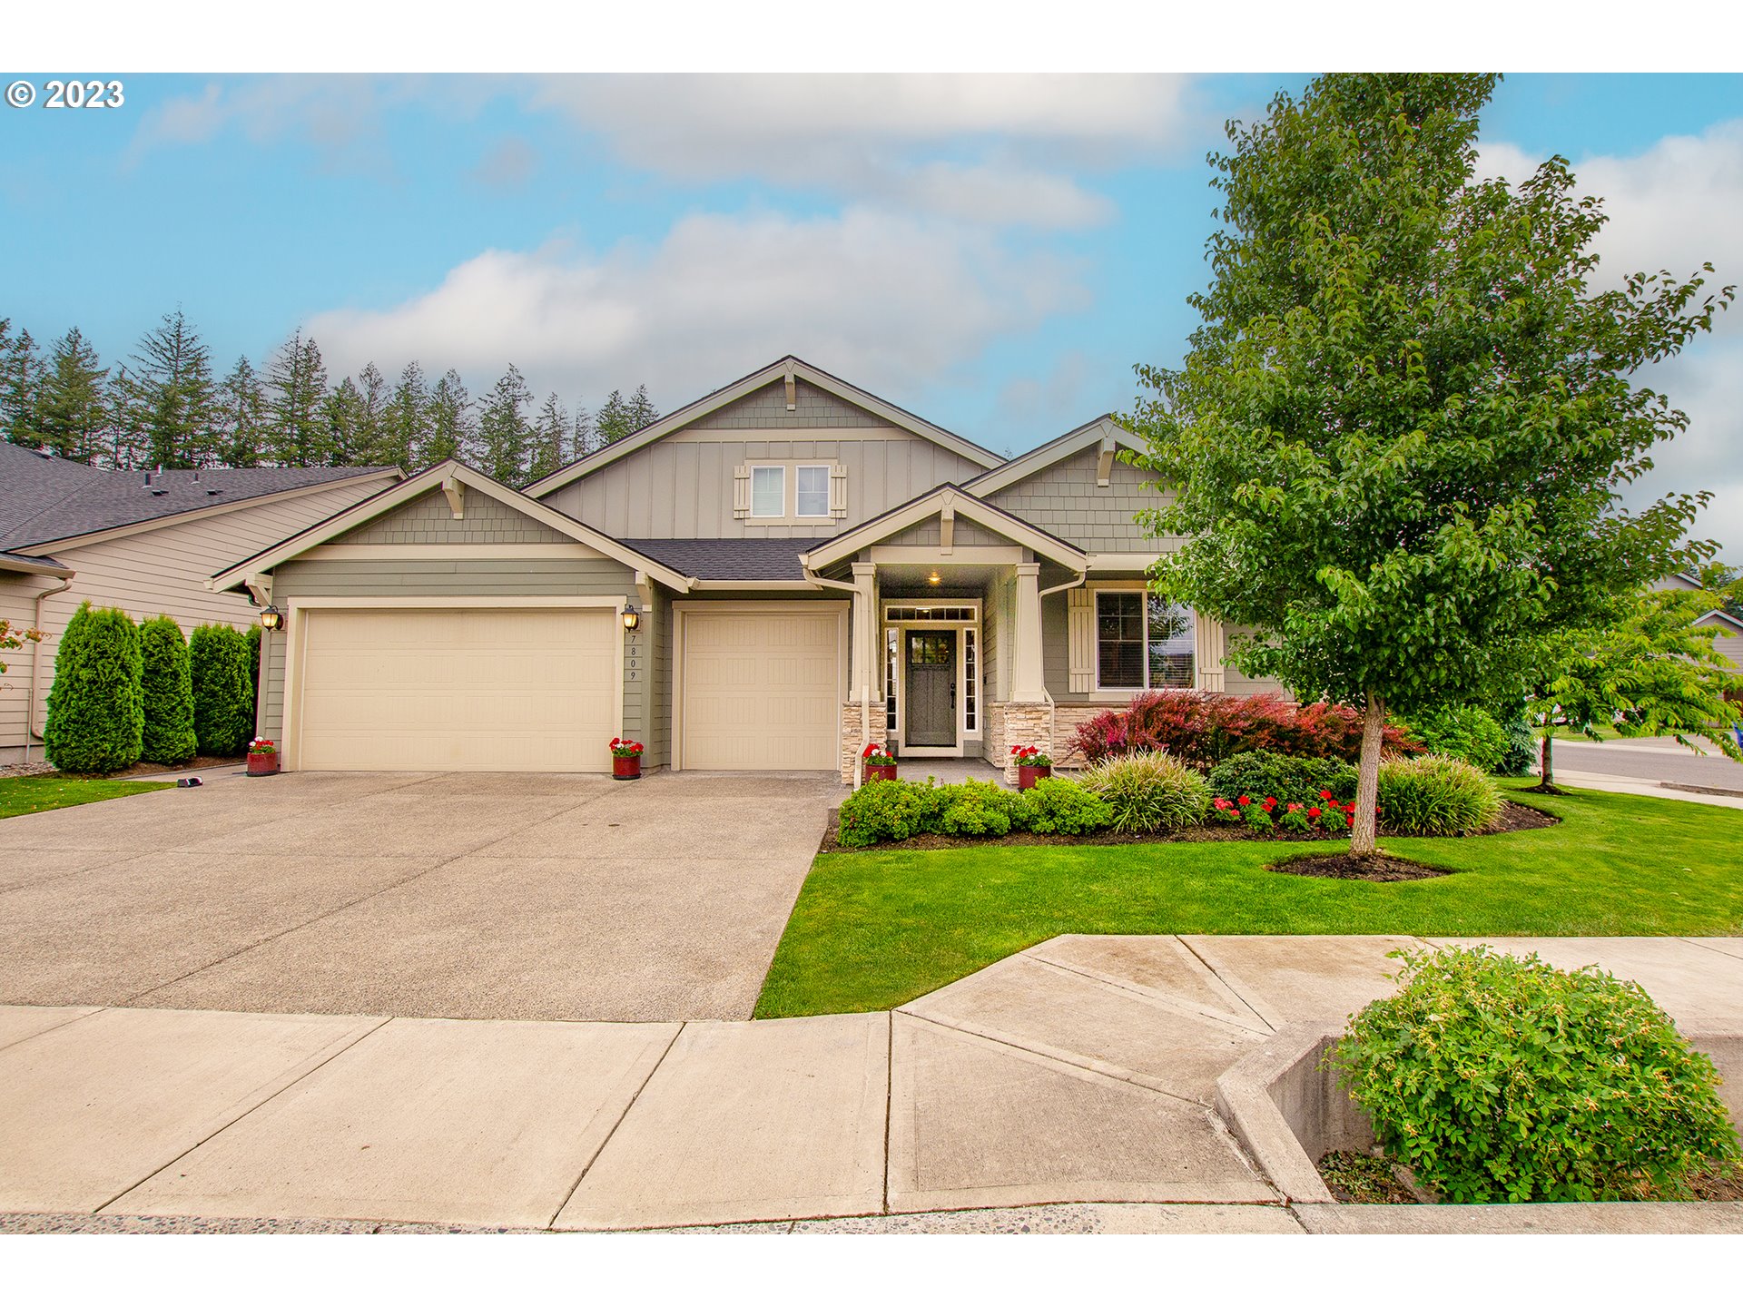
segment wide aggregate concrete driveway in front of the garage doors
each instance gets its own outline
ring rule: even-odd
[[[0,1002],[748,1018],[828,774],[218,777],[0,821]]]

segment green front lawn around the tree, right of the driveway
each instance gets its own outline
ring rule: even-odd
[[[1325,847],[1274,842],[821,854],[756,1016],[894,1007],[1056,934],[1743,932],[1743,810],[1591,791],[1527,802],[1562,824],[1384,840],[1461,873],[1384,885],[1265,871]]]

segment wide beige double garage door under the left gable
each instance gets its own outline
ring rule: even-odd
[[[605,772],[612,608],[309,608],[305,770]]]

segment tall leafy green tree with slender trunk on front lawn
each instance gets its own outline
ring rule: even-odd
[[[1156,586],[1246,627],[1248,674],[1361,709],[1356,852],[1387,711],[1516,699],[1546,636],[1712,554],[1680,544],[1706,495],[1618,486],[1687,423],[1631,375],[1733,288],[1588,286],[1604,214],[1563,159],[1476,176],[1495,80],[1321,77],[1231,124],[1203,324],[1138,368],[1138,464],[1175,491],[1142,521],[1187,540]]]

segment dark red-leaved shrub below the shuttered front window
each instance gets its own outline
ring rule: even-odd
[[[1084,721],[1077,748],[1091,763],[1128,753],[1171,753],[1199,770],[1250,749],[1356,762],[1361,716],[1340,704],[1292,704],[1272,694],[1145,690],[1126,708]],[[1382,748],[1398,755],[1422,751],[1398,727],[1386,727]]]

